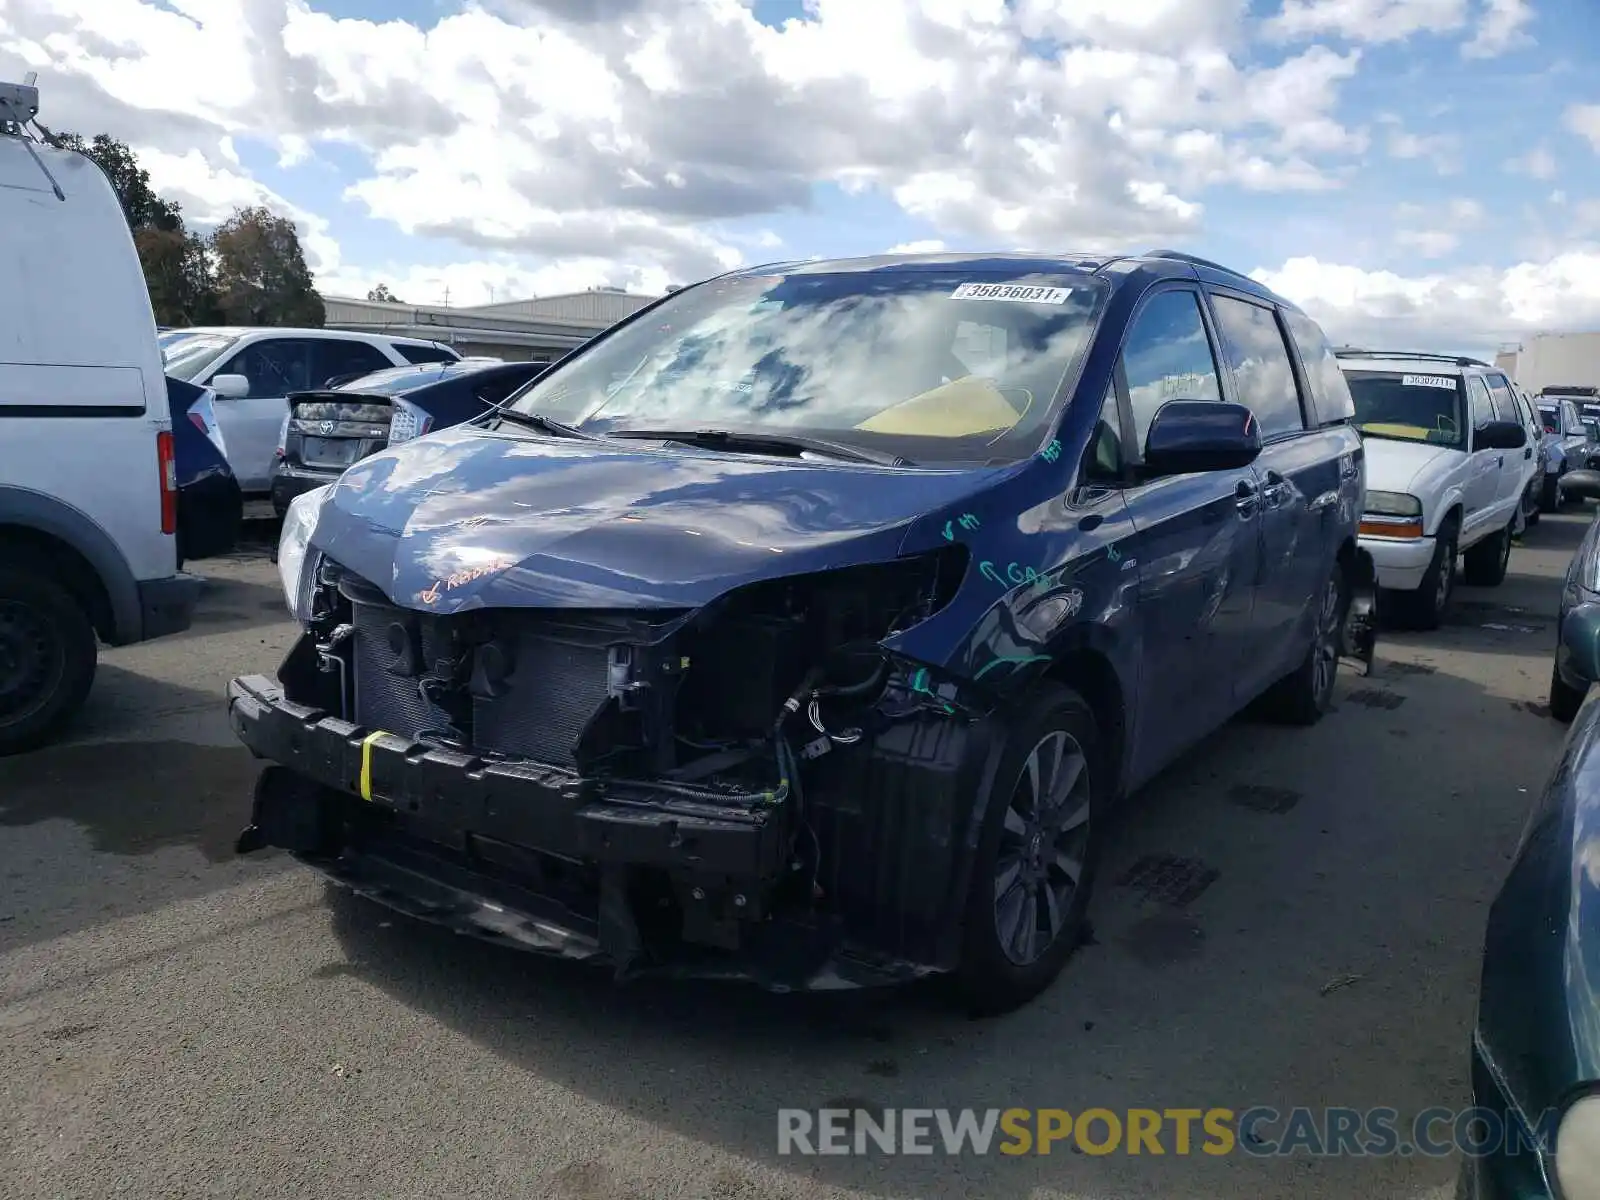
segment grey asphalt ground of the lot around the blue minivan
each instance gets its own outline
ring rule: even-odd
[[[1432,1197],[1394,1157],[779,1158],[776,1109],[1467,1102],[1485,909],[1562,728],[1546,518],[1451,624],[1387,634],[1309,731],[1235,722],[1139,795],[1096,941],[1026,1011],[938,989],[632,986],[232,856],[230,675],[293,638],[274,568],[106,653],[72,738],[0,762],[5,1190],[38,1197]],[[1181,907],[1138,886],[1184,859]],[[1206,883],[1206,880],[1210,880]]]

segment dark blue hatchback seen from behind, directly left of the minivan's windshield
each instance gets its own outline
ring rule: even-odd
[[[338,387],[291,395],[272,469],[272,507],[282,517],[291,499],[331,483],[352,462],[482,416],[541,371],[544,363],[464,358],[390,366]]]

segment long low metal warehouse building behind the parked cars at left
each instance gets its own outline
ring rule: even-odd
[[[477,307],[389,304],[350,296],[323,296],[322,302],[330,330],[427,338],[453,346],[464,357],[550,362],[654,299],[595,290]]]

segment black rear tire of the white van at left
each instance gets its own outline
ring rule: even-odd
[[[42,746],[83,707],[98,650],[66,587],[0,568],[0,757]]]

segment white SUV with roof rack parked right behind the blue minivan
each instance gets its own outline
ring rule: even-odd
[[[1339,350],[1366,451],[1362,549],[1406,624],[1437,629],[1464,581],[1506,578],[1536,446],[1510,381],[1477,358]]]

